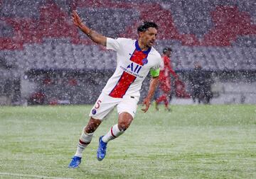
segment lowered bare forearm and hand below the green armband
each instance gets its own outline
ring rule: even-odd
[[[143,108],[142,110],[144,112],[146,112],[147,110],[149,110],[149,106],[150,106],[150,101],[151,98],[154,96],[154,91],[156,90],[156,86],[159,82],[159,77],[152,77],[150,84],[149,84],[149,93],[147,94],[146,98],[144,98],[143,100],[143,105],[145,105],[145,108]]]

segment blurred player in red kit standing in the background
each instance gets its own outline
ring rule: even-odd
[[[163,94],[155,100],[155,108],[159,110],[158,104],[164,101],[166,110],[170,111],[169,108],[169,96],[171,95],[171,74],[175,79],[178,79],[178,75],[171,68],[171,47],[164,47],[163,56],[161,57],[161,69],[159,74],[159,88]]]

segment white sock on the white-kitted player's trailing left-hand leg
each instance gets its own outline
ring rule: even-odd
[[[93,132],[86,133],[85,128],[82,129],[82,134],[78,142],[78,148],[77,148],[77,151],[75,152],[75,156],[82,157],[82,151],[85,150],[85,147],[88,144],[90,144],[90,142],[92,141],[92,136],[93,136]]]

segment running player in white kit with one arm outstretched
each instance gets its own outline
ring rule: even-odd
[[[152,45],[156,41],[158,26],[153,22],[144,22],[137,28],[138,40],[129,38],[112,39],[91,30],[82,23],[78,13],[73,11],[73,23],[93,42],[117,52],[117,67],[107,81],[105,88],[90,111],[90,120],[82,129],[78,148],[69,164],[69,168],[77,168],[81,163],[82,151],[90,144],[92,135],[107,114],[117,106],[118,122],[99,139],[97,159],[105,158],[107,143],[119,137],[131,125],[137,110],[139,90],[147,74],[151,73],[149,92],[143,100],[142,110],[149,109],[150,101],[158,83],[161,55]]]

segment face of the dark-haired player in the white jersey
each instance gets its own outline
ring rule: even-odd
[[[143,45],[152,47],[156,41],[156,34],[156,28],[148,28],[145,32],[141,33],[140,38],[142,39]]]

